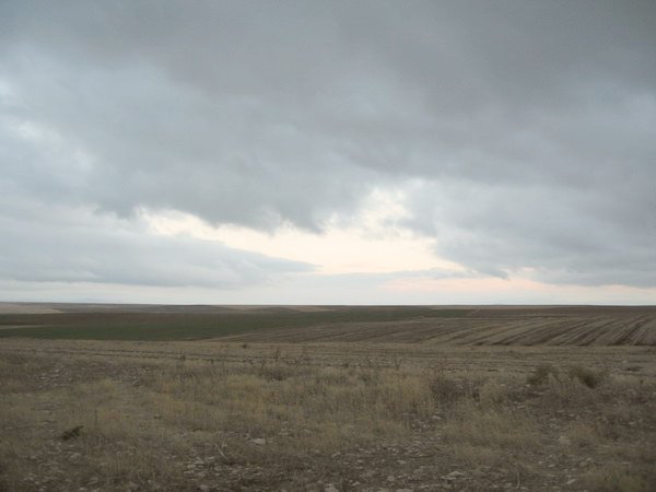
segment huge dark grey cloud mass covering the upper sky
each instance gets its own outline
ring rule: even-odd
[[[467,269],[656,286],[652,1],[5,2],[2,179],[320,230],[376,187]],[[527,273],[528,272],[528,273]]]

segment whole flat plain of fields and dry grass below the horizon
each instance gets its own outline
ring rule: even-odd
[[[656,490],[656,308],[0,304],[0,490]]]

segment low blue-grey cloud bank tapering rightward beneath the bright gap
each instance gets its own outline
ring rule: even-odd
[[[311,272],[270,258],[184,235],[162,237],[143,221],[66,207],[0,200],[0,279],[165,288],[243,289]]]

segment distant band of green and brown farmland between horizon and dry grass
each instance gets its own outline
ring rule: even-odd
[[[16,306],[16,305],[13,305]],[[0,315],[0,338],[656,345],[656,307],[84,306]],[[40,312],[38,311],[40,309]]]

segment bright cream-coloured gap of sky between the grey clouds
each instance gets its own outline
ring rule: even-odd
[[[453,269],[456,263],[435,255],[434,241],[399,225],[408,218],[398,192],[374,191],[356,216],[335,218],[320,233],[286,224],[267,233],[238,225],[211,226],[199,218],[177,212],[149,212],[143,216],[163,235],[189,235],[233,248],[314,265],[316,273],[390,273],[408,270]]]

